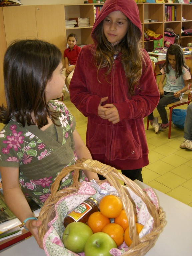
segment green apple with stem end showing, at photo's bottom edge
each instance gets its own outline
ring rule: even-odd
[[[91,235],[85,244],[85,256],[111,256],[110,250],[117,248],[113,238],[104,232]]]

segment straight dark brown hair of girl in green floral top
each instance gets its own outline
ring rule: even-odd
[[[0,106],[0,122],[7,124],[12,117],[24,127],[53,123],[57,113],[47,105],[45,88],[53,71],[62,60],[60,50],[41,40],[13,42],[4,57],[6,107]]]

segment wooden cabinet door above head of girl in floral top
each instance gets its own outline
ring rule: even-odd
[[[7,46],[16,39],[37,38],[35,6],[3,7]]]

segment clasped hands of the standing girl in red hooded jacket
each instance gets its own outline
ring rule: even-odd
[[[113,124],[116,124],[120,121],[119,118],[119,112],[115,105],[112,103],[105,104],[101,106],[103,102],[105,102],[108,99],[108,97],[104,97],[101,99],[99,107],[98,107],[98,115],[102,119],[107,119],[109,122],[112,122]]]

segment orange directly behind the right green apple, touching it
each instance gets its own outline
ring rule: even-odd
[[[109,234],[117,246],[120,246],[124,241],[124,230],[117,223],[109,223],[103,229],[102,232]]]

